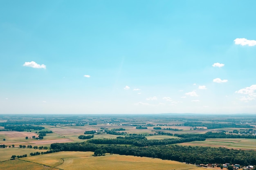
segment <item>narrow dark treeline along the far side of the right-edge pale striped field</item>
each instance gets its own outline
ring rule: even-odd
[[[174,136],[182,138],[191,138],[191,137],[203,137],[203,138],[247,138],[247,139],[256,139],[255,135],[233,135],[225,134],[224,132],[206,132],[204,134],[195,134],[195,133],[184,133],[184,134],[174,134]]]

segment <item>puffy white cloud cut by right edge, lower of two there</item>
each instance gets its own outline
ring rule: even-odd
[[[256,98],[256,84],[253,84],[252,86],[242,88],[239,91],[236,91],[237,94],[243,94],[247,96],[242,96],[240,100],[244,102],[248,102],[251,100],[255,100]]]

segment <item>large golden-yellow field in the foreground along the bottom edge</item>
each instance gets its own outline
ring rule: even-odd
[[[93,157],[92,154],[93,152],[57,152],[21,159],[63,170],[109,170],[113,168],[118,170],[205,170],[205,168],[177,161],[115,154]]]

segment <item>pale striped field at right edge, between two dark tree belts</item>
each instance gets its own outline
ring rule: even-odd
[[[182,146],[210,146],[225,147],[230,149],[256,150],[256,139],[206,139],[179,144]]]

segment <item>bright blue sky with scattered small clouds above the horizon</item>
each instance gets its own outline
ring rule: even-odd
[[[256,113],[256,1],[0,1],[0,113]]]

